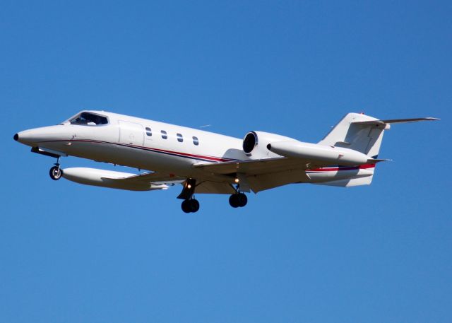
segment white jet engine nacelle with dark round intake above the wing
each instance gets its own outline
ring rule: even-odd
[[[279,134],[270,134],[263,131],[250,131],[243,139],[243,151],[252,159],[280,157],[277,153],[268,150],[268,143],[275,141],[295,141],[296,139]]]

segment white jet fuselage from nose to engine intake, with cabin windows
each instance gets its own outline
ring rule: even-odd
[[[67,155],[186,177],[196,172],[191,167],[194,163],[249,159],[242,150],[241,139],[111,112],[100,113],[109,118],[108,124],[64,122],[22,131],[20,139],[29,146]]]

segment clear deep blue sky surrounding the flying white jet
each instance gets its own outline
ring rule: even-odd
[[[2,1],[0,322],[451,322],[450,1]],[[54,182],[13,141],[83,109],[319,141],[385,134],[370,187],[198,196]],[[65,158],[64,167],[109,168]],[[95,204],[96,207],[91,206]]]

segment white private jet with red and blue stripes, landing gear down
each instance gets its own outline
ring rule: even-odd
[[[244,139],[200,129],[84,110],[61,124],[20,131],[13,139],[33,153],[57,158],[52,180],[131,191],[168,189],[182,184],[182,211],[199,210],[195,194],[230,194],[233,208],[247,203],[244,193],[292,183],[336,187],[371,184],[385,130],[391,124],[437,118],[381,120],[348,113],[319,143],[250,131]],[[76,156],[124,165],[144,173],[95,168],[61,168],[61,157]]]

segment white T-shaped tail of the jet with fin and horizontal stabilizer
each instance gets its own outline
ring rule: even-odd
[[[355,172],[350,174],[350,177],[344,178],[340,176],[341,170],[343,173],[350,172],[350,167],[345,168],[340,165],[333,167],[338,169],[337,180],[331,178],[328,182],[319,182],[315,184],[352,187],[359,185],[369,185],[374,177],[374,169],[376,163],[384,159],[378,159],[383,141],[383,134],[385,130],[390,129],[391,124],[419,122],[419,121],[433,121],[436,118],[415,118],[415,119],[388,119],[381,120],[370,117],[366,114],[349,113],[343,117],[338,124],[331,129],[331,131],[323,138],[319,144],[325,146],[350,148],[360,153],[365,153],[369,156],[369,164],[357,165]]]

